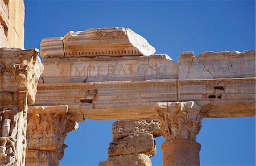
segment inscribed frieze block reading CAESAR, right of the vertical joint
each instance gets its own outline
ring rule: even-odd
[[[184,52],[179,58],[181,78],[255,77],[255,50],[203,52],[194,56]]]

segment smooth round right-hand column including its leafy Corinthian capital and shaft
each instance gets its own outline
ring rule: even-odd
[[[200,165],[200,106],[195,102],[156,103],[166,141],[162,144],[163,165]]]

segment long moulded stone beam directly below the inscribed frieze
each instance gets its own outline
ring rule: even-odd
[[[202,107],[203,118],[250,117],[255,115],[255,81],[216,78],[39,84],[35,104],[68,104],[73,121],[157,119],[155,103],[174,101],[195,101]],[[224,90],[218,89],[221,85]],[[218,98],[220,93],[224,94]]]

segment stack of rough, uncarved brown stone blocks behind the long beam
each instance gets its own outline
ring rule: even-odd
[[[99,165],[151,165],[156,153],[155,136],[162,135],[158,120],[117,121],[112,127],[109,157]]]

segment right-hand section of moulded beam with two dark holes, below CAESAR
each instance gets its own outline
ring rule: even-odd
[[[177,101],[195,101],[204,118],[255,116],[255,77],[183,79]]]

